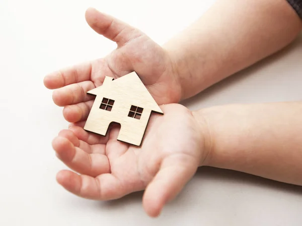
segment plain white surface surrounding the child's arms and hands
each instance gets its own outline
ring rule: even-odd
[[[143,212],[142,192],[91,201],[55,181],[65,166],[51,141],[67,123],[43,77],[116,46],[86,24],[85,10],[95,7],[163,44],[213,2],[0,0],[0,225],[302,225],[300,187],[239,172],[201,168],[156,219]],[[302,37],[183,104],[301,100],[301,59]]]

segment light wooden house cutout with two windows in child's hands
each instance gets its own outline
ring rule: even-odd
[[[118,79],[105,76],[95,95],[84,129],[106,136],[111,123],[121,125],[117,140],[140,146],[152,112],[164,114],[135,72]]]

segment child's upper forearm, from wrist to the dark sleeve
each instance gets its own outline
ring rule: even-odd
[[[301,28],[286,0],[218,0],[163,47],[184,99],[285,47]]]

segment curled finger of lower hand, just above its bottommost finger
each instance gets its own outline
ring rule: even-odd
[[[52,146],[58,158],[80,174],[96,177],[110,172],[110,164],[106,155],[89,154],[60,136],[53,140]],[[103,149],[105,150],[105,145],[103,145]]]

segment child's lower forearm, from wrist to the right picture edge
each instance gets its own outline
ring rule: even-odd
[[[201,164],[302,185],[301,112],[302,102],[232,104],[193,112],[209,129],[209,151]]]

